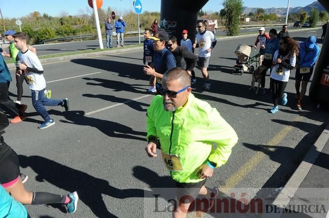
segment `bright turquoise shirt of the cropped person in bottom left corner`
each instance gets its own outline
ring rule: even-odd
[[[18,201],[14,200],[0,185],[0,217],[6,218],[29,218],[25,207]]]

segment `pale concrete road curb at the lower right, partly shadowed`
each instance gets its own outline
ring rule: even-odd
[[[300,163],[296,171],[290,177],[285,187],[276,196],[272,202],[273,205],[289,205],[291,198],[295,195],[300,184],[303,182],[311,167],[313,166],[316,158],[324,148],[325,143],[329,140],[329,124],[322,131],[320,136],[315,141],[314,145],[310,148],[303,161]],[[282,211],[282,210],[280,210]],[[262,218],[280,218],[283,213],[265,213]]]

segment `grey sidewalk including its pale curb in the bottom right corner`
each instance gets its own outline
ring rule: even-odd
[[[281,207],[278,213],[264,214],[263,218],[329,217],[329,125],[273,204],[286,207]]]

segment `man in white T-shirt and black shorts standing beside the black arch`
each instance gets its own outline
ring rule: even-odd
[[[215,47],[217,40],[214,34],[208,31],[208,22],[206,20],[198,22],[197,25],[198,34],[197,34],[197,44],[193,44],[194,48],[199,48],[199,58],[198,66],[201,69],[202,76],[205,80],[203,85],[204,90],[210,90],[211,84],[209,81],[209,74],[207,68],[209,66],[211,50]]]

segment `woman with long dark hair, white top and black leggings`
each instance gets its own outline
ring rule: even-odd
[[[298,43],[289,36],[280,39],[280,48],[275,51],[273,57],[273,65],[271,70],[271,88],[274,107],[270,113],[275,113],[278,110],[278,99],[282,105],[288,102],[287,87],[290,70],[296,65],[296,56],[298,55]]]

